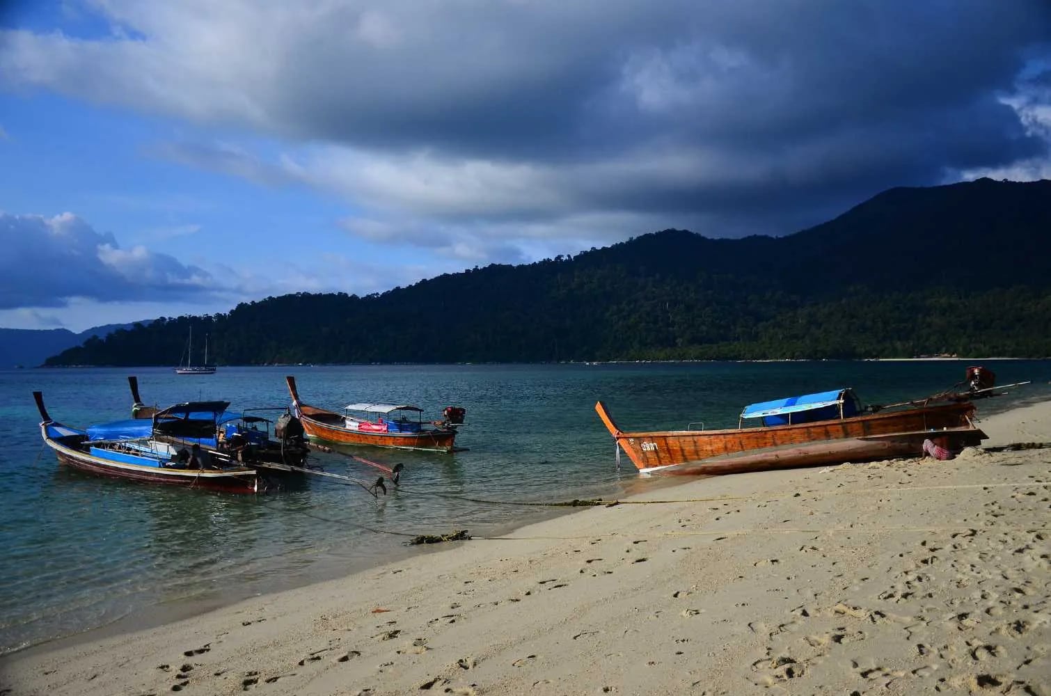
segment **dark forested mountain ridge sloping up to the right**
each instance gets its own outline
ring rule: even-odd
[[[161,319],[48,365],[1051,355],[1051,181],[894,188],[782,238],[645,234],[364,298]]]

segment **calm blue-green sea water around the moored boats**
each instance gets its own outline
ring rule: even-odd
[[[416,403],[438,417],[463,406],[453,454],[351,450],[406,467],[374,500],[315,478],[273,495],[231,496],[109,480],[61,467],[42,446],[32,392],[70,426],[128,417],[126,369],[0,371],[0,652],[110,625],[149,622],[346,574],[426,550],[406,536],[486,534],[554,514],[477,503],[622,495],[640,479],[593,409],[606,402],[625,429],[736,427],[748,403],[853,387],[862,401],[920,397],[961,381],[968,362],[693,363],[616,365],[220,368],[210,376],[138,369],[146,403],[223,398],[235,408],[285,406],[294,373],[312,405]],[[1051,362],[982,361],[998,382],[1034,385],[982,404],[982,413],[1051,397]],[[346,456],[327,471],[374,479]],[[376,531],[384,530],[384,531]],[[128,618],[130,617],[130,618]]]

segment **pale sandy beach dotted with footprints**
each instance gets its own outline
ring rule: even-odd
[[[1051,402],[982,421],[1051,441]],[[698,479],[0,662],[0,694],[1051,694],[1051,449]]]

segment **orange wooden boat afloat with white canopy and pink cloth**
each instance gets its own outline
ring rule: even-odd
[[[292,396],[292,412],[307,435],[317,439],[452,452],[456,429],[463,425],[465,411],[454,406],[445,409],[444,421],[429,423],[424,422],[421,408],[409,404],[350,404],[345,413],[336,413],[300,401],[295,377],[289,375],[285,382]]]

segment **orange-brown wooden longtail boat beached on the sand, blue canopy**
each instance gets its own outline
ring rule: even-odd
[[[625,432],[602,402],[595,410],[645,474],[727,474],[920,456],[925,439],[960,450],[986,438],[974,426],[970,401],[910,402],[872,412],[851,389],[753,404],[742,411],[738,428],[727,430]],[[743,427],[753,418],[762,425]]]

